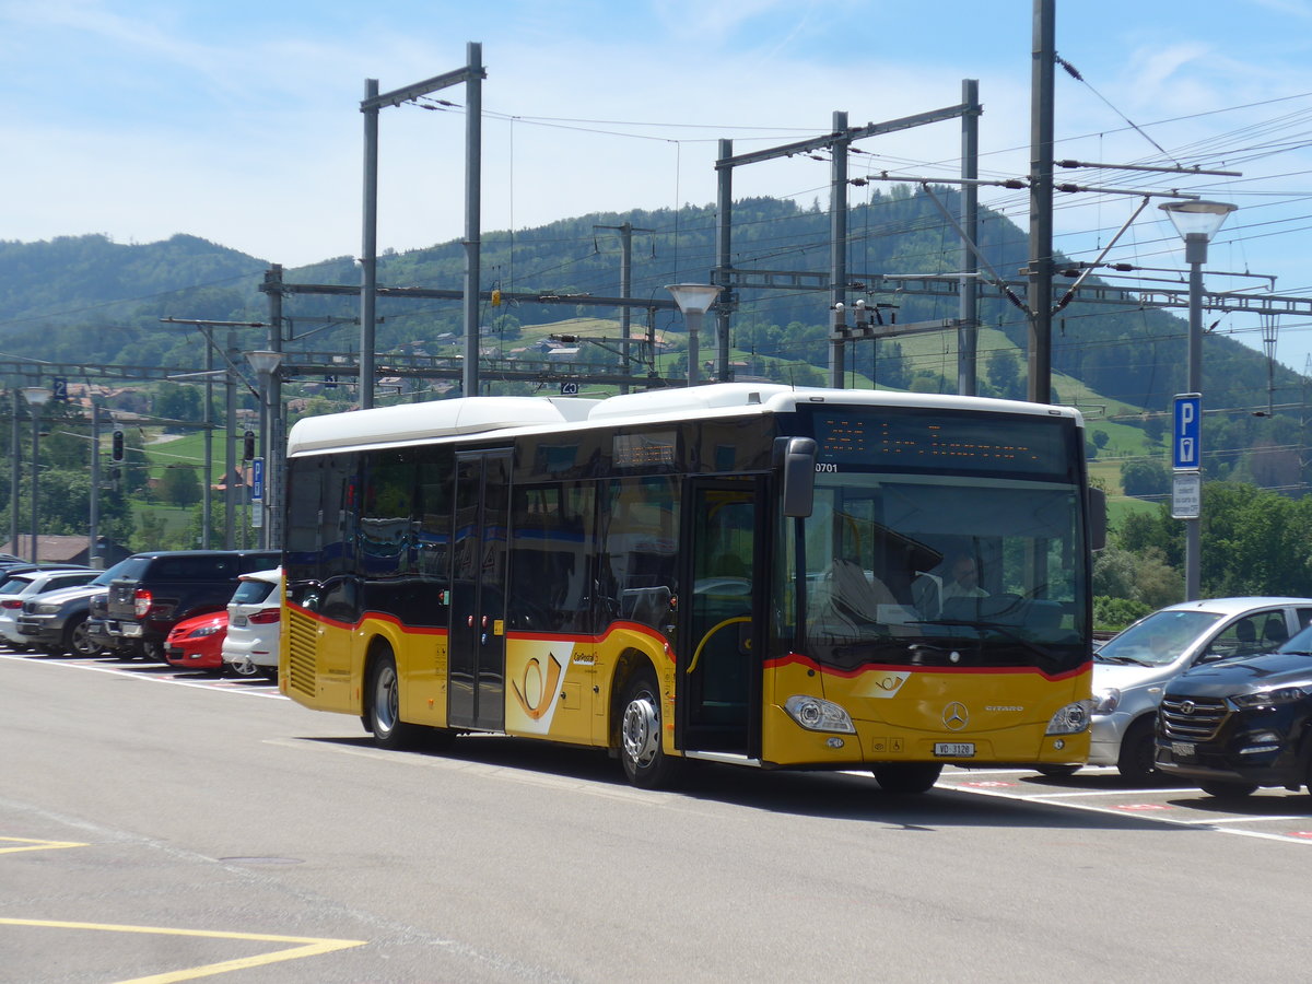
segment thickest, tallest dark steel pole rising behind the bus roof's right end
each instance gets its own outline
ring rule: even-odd
[[[1029,398],[1052,401],[1052,135],[1056,0],[1034,0],[1030,71]]]

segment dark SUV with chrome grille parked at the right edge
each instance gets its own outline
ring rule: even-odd
[[[1204,792],[1312,787],[1312,627],[1275,652],[1198,666],[1166,685],[1157,768]]]

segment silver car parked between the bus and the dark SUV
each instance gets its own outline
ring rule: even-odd
[[[1312,598],[1274,597],[1186,601],[1139,619],[1093,655],[1089,765],[1148,781],[1168,681],[1203,663],[1271,652],[1309,623]]]

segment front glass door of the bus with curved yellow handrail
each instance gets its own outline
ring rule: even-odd
[[[758,757],[768,581],[764,479],[691,479],[674,741],[685,752]],[[691,590],[687,590],[691,588]]]

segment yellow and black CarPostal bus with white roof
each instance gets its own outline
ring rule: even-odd
[[[310,417],[287,437],[279,687],[386,748],[493,732],[687,760],[1084,762],[1084,422],[720,383]]]

